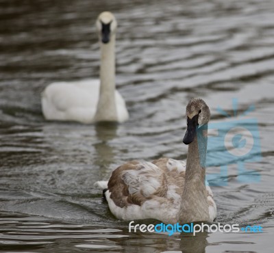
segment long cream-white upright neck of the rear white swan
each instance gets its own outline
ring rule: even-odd
[[[101,47],[100,91],[95,121],[117,121],[115,100],[115,34]]]

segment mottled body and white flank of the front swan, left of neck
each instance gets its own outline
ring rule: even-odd
[[[105,197],[119,219],[175,223],[184,189],[185,163],[162,158],[130,161],[114,170]]]

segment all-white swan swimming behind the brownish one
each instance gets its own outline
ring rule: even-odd
[[[100,80],[51,83],[42,92],[42,112],[47,120],[82,123],[124,122],[129,118],[125,101],[115,89],[116,19],[110,12],[97,18],[101,48]]]

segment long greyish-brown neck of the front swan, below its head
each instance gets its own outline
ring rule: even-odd
[[[197,135],[207,135],[208,127],[197,129]],[[188,146],[188,156],[186,159],[186,178],[184,191],[182,194],[182,204],[179,211],[179,220],[192,222],[197,219],[206,220],[208,215],[207,191],[206,191],[206,150],[207,137],[195,136]],[[202,163],[201,163],[202,161]],[[192,216],[195,214],[195,216]],[[182,217],[182,218],[180,218]]]

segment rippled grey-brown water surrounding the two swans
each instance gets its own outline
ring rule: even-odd
[[[121,125],[47,122],[40,92],[52,81],[97,78],[95,20],[119,22],[116,83],[130,120]],[[0,248],[3,252],[273,252],[274,2],[0,1]],[[93,187],[131,159],[186,159],[189,98],[212,122],[249,105],[258,120],[259,183],[212,187],[216,222],[260,224],[262,234],[129,233]],[[237,117],[236,119],[240,119]],[[216,173],[218,168],[208,168]],[[220,178],[219,178],[220,179]],[[216,178],[218,180],[218,178]]]

